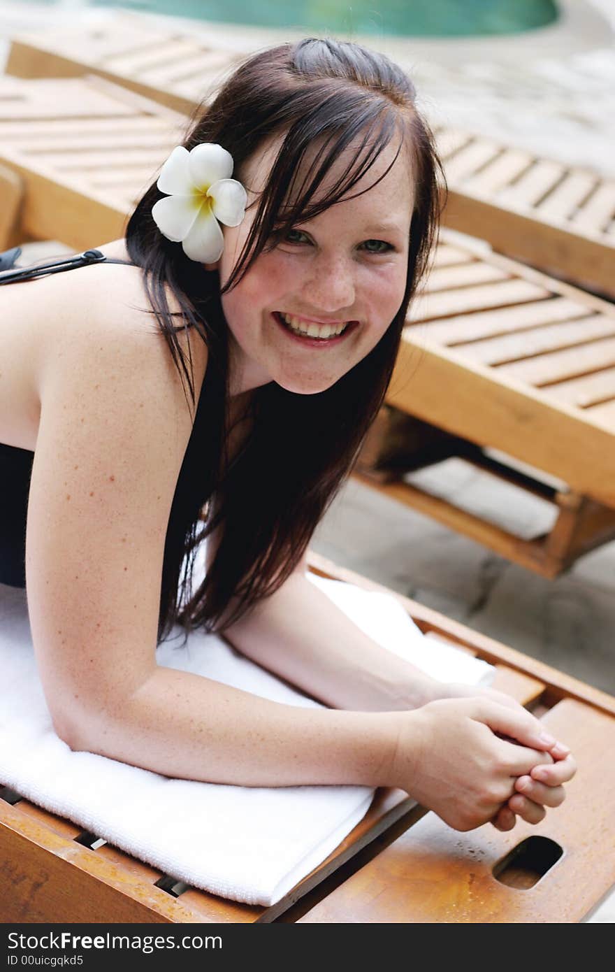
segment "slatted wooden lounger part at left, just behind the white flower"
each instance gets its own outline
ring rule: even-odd
[[[84,250],[116,239],[186,123],[98,77],[0,77],[0,165],[23,191],[2,245],[57,239]],[[3,183],[0,192],[4,221]]]

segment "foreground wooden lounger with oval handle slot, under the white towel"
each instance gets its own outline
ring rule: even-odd
[[[310,569],[386,590],[312,555]],[[389,592],[391,593],[391,592]],[[393,595],[427,636],[495,664],[508,691],[571,746],[579,772],[557,811],[461,834],[399,790],[379,790],[325,863],[270,908],[178,884],[147,864],[0,788],[5,922],[571,922],[615,884],[615,699],[541,662]],[[1,781],[0,781],[1,782]]]

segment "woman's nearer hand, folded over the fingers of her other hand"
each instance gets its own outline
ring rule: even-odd
[[[516,800],[518,778],[530,778],[533,787],[537,768],[553,764],[548,749],[556,740],[517,704],[443,699],[399,718],[395,785],[456,830],[495,819],[503,804]],[[535,789],[532,794],[544,797]]]

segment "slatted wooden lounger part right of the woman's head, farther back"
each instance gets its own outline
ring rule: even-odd
[[[453,128],[437,128],[436,141],[447,226],[615,296],[615,179]]]

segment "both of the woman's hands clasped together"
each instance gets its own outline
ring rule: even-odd
[[[449,684],[446,696],[415,710],[414,745],[401,729],[397,772],[412,796],[457,830],[535,824],[562,804],[576,764],[538,719],[494,689]]]

